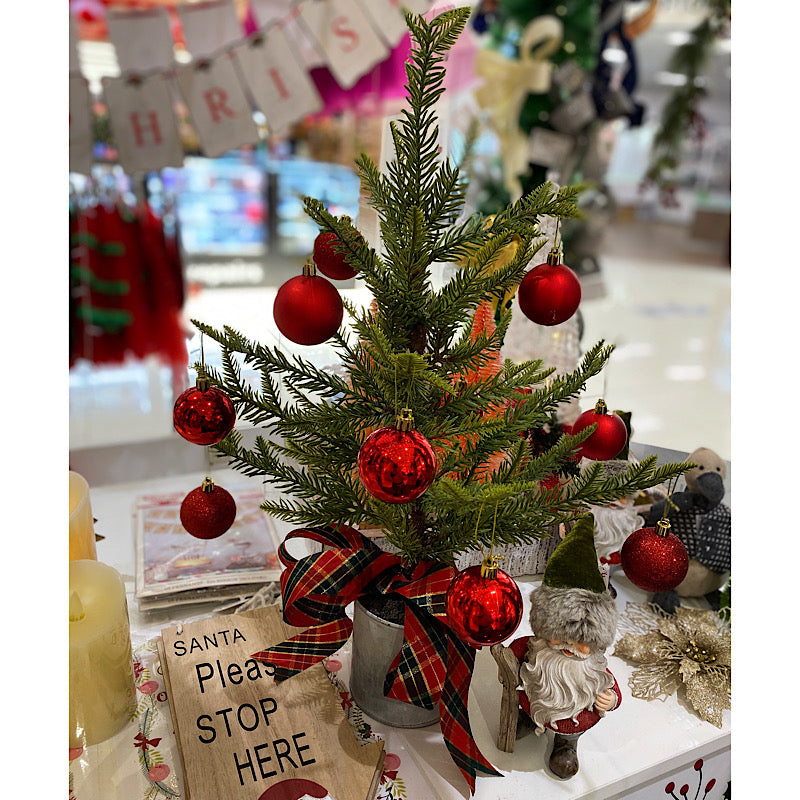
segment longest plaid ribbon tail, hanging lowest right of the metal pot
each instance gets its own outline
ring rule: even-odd
[[[475,650],[452,634],[447,638],[447,674],[439,703],[439,723],[450,757],[469,784],[470,793],[474,794],[478,772],[493,776],[502,776],[502,773],[478,749],[469,725],[467,698],[475,666]]]

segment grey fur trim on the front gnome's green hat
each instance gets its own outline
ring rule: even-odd
[[[531,593],[531,629],[541,639],[582,642],[602,652],[614,641],[618,614],[609,592],[543,584]]]

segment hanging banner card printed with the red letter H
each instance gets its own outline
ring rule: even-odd
[[[183,166],[166,74],[103,78],[103,95],[119,163],[128,175]]]

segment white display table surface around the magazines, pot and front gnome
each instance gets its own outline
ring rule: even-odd
[[[213,472],[214,480],[222,486],[248,481],[260,485],[260,480],[247,478],[232,470]],[[169,491],[189,491],[199,485],[202,475],[190,474],[137,481],[128,484],[92,489],[92,510],[97,523],[96,532],[105,538],[97,544],[98,559],[110,564],[125,578],[129,590],[131,637],[134,643],[157,636],[162,627],[207,616],[214,604],[180,606],[160,611],[141,612],[133,597],[135,574],[134,526],[132,509],[139,494]],[[277,522],[281,535],[292,529],[291,524]],[[297,552],[293,547],[293,552]],[[622,612],[625,604],[646,602],[646,593],[633,586],[619,568],[612,572],[617,589],[617,603]],[[523,623],[511,638],[529,634],[527,622],[530,591],[538,584],[536,576],[517,579],[525,600]],[[720,777],[711,798],[721,796],[730,775],[730,711],[718,729],[701,720],[688,705],[673,695],[666,701],[644,701],[633,698],[628,678],[633,666],[608,654],[609,668],[623,693],[622,705],[610,713],[580,741],[580,771],[569,781],[553,778],[545,768],[549,754],[548,736],[529,735],[517,741],[514,753],[503,753],[495,746],[500,710],[501,685],[497,668],[487,648],[478,651],[469,698],[469,713],[476,743],[484,756],[504,778],[479,777],[476,800],[531,800],[531,798],[602,798],[636,797],[649,782],[672,780],[678,787],[693,779],[692,765],[704,759],[707,766],[716,764]],[[444,746],[438,726],[417,730],[391,730],[391,745],[404,750],[425,775],[430,786],[430,800],[468,798],[466,784]],[[388,746],[388,745],[387,745]],[[688,771],[687,771],[688,770]],[[685,777],[681,778],[683,774]],[[706,772],[705,775],[711,777]],[[673,777],[670,777],[673,776]],[[690,783],[691,793],[697,781]],[[677,796],[677,789],[676,796]],[[652,792],[648,794],[647,792]],[[701,790],[702,792],[702,790]],[[647,797],[669,797],[663,785],[641,794]],[[702,793],[698,797],[703,797]],[[410,800],[410,799],[409,799]],[[414,800],[428,800],[425,797]]]

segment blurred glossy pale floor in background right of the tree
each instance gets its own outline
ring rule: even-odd
[[[618,225],[601,259],[605,296],[582,303],[583,342],[616,344],[609,405],[638,441],[731,455],[731,273],[721,245],[659,224]],[[587,387],[591,391],[592,387]]]

